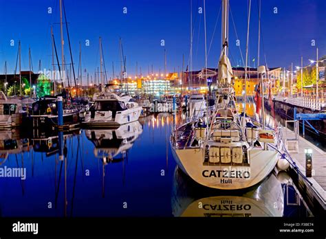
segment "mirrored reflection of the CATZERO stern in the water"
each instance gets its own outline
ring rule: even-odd
[[[209,190],[175,169],[172,194],[173,216],[252,217],[283,216],[282,185],[274,172],[252,190]]]

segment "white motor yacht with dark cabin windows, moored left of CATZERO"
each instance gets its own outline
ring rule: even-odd
[[[93,100],[94,105],[85,113],[83,124],[87,126],[120,126],[137,121],[142,113],[142,107],[129,95],[100,92]]]

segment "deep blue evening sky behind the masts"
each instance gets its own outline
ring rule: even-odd
[[[204,67],[204,14],[198,14],[197,8],[202,0],[193,0],[193,69]],[[198,7],[197,7],[198,6]],[[232,15],[241,49],[245,54],[247,32],[247,0],[230,0]],[[52,14],[47,8],[52,7]],[[122,8],[127,7],[127,14]],[[274,14],[273,8],[278,8]],[[124,54],[127,56],[127,72],[135,73],[135,62],[147,74],[149,65],[154,71],[164,71],[165,40],[168,71],[173,67],[182,68],[182,54],[185,65],[188,64],[190,35],[190,0],[65,0],[69,33],[72,41],[73,55],[78,67],[79,41],[82,42],[83,68],[94,73],[99,65],[98,37],[102,36],[105,51],[105,63],[108,75],[111,76],[111,64],[115,70],[119,67],[118,41],[122,38]],[[220,1],[206,0],[206,21],[208,47],[213,36],[215,22],[219,14]],[[257,59],[258,13],[257,0],[252,0],[250,23],[250,64]],[[261,28],[261,62],[267,59],[270,67],[288,67],[291,62],[304,64],[309,58],[316,58],[316,41],[320,56],[326,54],[326,1],[325,0],[262,0]],[[14,69],[19,39],[22,45],[22,69],[28,69],[28,47],[32,50],[34,71],[38,69],[39,59],[42,69],[51,67],[50,26],[59,22],[58,0],[1,0],[0,8],[0,72],[3,63],[8,61],[8,72]],[[200,27],[199,27],[200,24]],[[60,28],[54,24],[56,44],[61,56]],[[14,40],[14,47],[10,40]],[[65,39],[66,35],[65,35]],[[85,40],[90,46],[85,46]],[[235,30],[230,17],[230,60],[232,65],[242,65],[239,47],[235,46]],[[65,55],[68,55],[67,40]],[[208,67],[217,66],[221,45],[221,15],[215,30],[212,47],[208,56]],[[257,64],[257,60],[255,62]],[[185,67],[186,68],[186,67]]]

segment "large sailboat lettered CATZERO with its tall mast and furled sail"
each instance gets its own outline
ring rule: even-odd
[[[237,111],[228,59],[228,0],[222,0],[222,9],[215,108],[208,117],[173,130],[170,142],[177,165],[194,181],[219,190],[239,190],[272,172],[280,159],[281,135]]]

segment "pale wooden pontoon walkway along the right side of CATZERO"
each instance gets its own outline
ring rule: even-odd
[[[295,134],[288,128],[283,128],[283,141],[294,139]],[[312,199],[316,199],[320,205],[326,209],[326,152],[307,141],[298,137],[298,152],[289,152],[298,170],[305,175],[305,148],[312,149],[312,177],[307,178],[310,183],[306,183],[302,177],[298,177],[298,183],[310,194]],[[292,167],[293,169],[293,167]],[[294,169],[295,170],[295,169]]]

